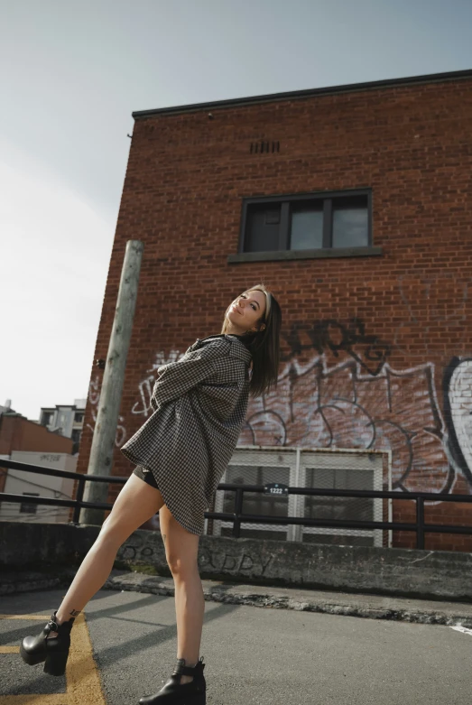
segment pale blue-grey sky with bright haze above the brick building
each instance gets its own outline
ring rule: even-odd
[[[0,404],[85,397],[133,110],[472,69],[471,0],[0,0]]]

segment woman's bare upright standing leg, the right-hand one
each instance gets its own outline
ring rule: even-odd
[[[199,535],[190,533],[174,519],[167,506],[159,512],[165,555],[175,586],[175,616],[177,619],[177,658],[194,666],[199,661],[199,649],[205,599],[199,576]],[[182,675],[181,683],[192,681]]]

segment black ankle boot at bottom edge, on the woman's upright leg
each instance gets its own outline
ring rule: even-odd
[[[171,678],[155,695],[147,695],[139,700],[139,705],[205,705],[207,684],[203,675],[203,656],[192,667],[185,665],[185,659],[177,659]],[[192,675],[193,681],[180,684],[182,675]]]

